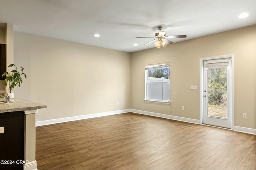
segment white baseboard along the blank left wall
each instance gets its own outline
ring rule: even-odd
[[[94,117],[116,115],[116,114],[127,113],[127,112],[130,112],[130,109],[108,111],[108,112],[95,113],[95,114],[90,114],[90,115],[80,115],[80,116],[74,116],[74,117],[64,117],[64,118],[51,119],[51,120],[45,120],[45,121],[36,121],[36,127],[44,126],[44,125],[51,125],[51,124],[55,124],[55,123],[63,123],[63,122],[68,122],[68,121],[90,119],[90,118],[94,118]]]

